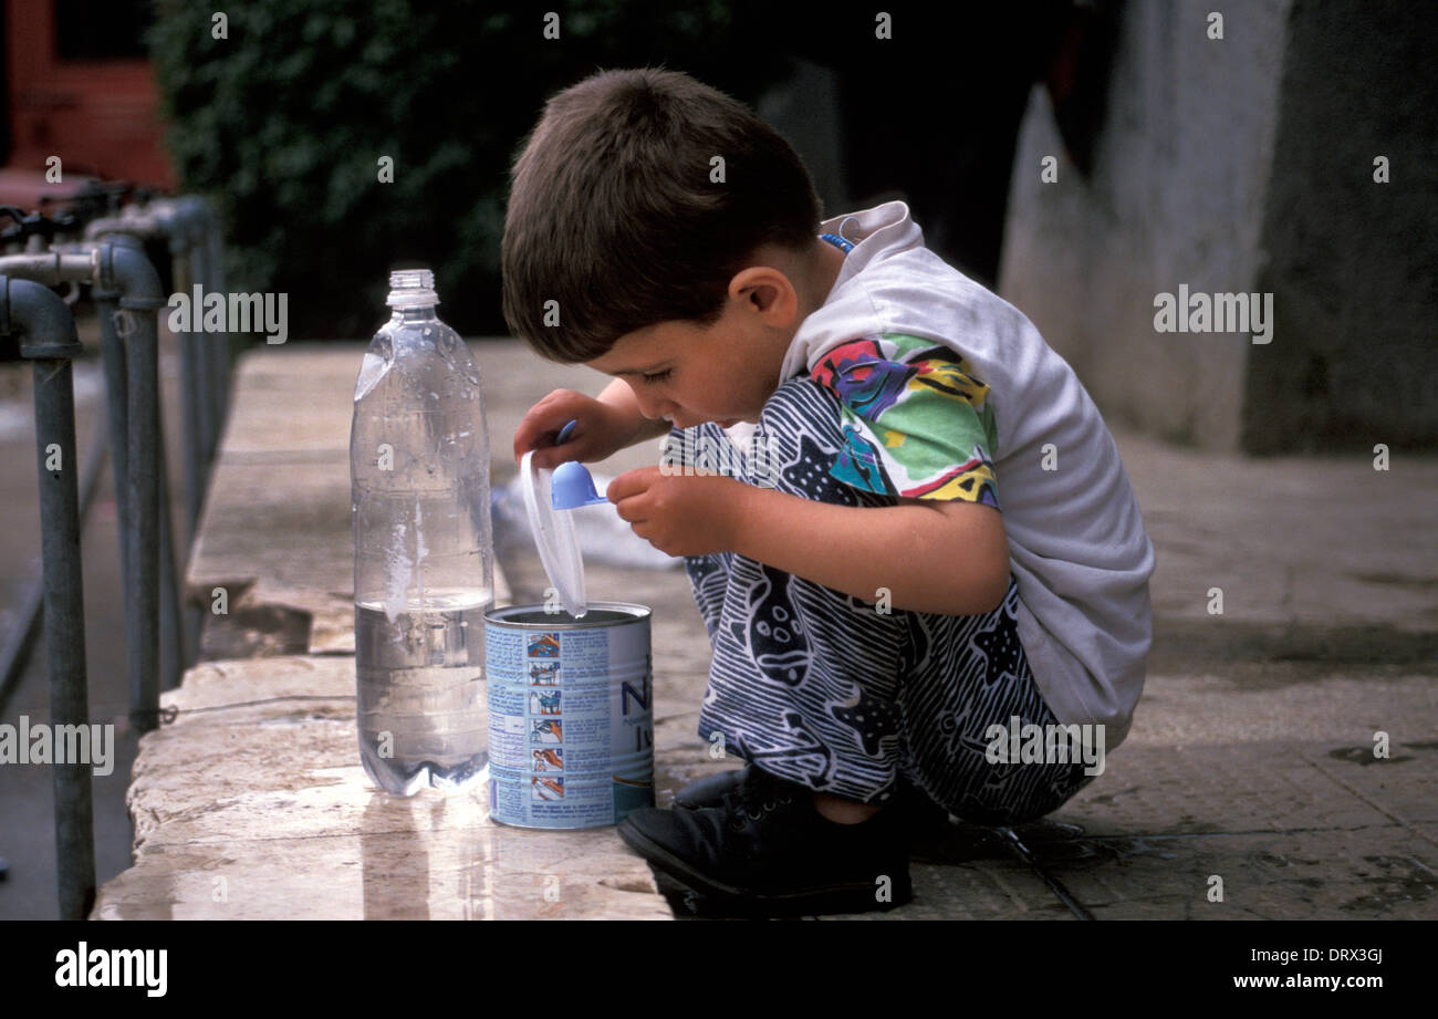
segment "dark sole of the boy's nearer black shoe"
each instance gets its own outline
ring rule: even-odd
[[[913,885],[907,866],[894,877],[889,901],[874,898],[874,885],[869,882],[838,882],[818,885],[797,892],[766,892],[754,888],[715,881],[674,856],[669,849],[651,841],[647,835],[620,822],[620,839],[649,861],[654,868],[677,881],[686,889],[706,897],[707,902],[686,900],[686,907],[695,912],[736,912],[741,915],[808,915],[820,912],[887,912],[913,901]]]

